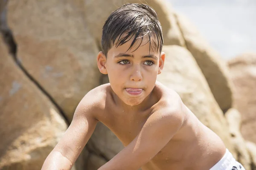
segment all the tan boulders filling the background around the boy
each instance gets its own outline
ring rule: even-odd
[[[124,1],[159,15],[168,67],[158,81],[256,170],[256,54],[225,62],[164,0],[0,0],[0,170],[40,170],[81,98],[108,82],[96,55],[104,21]],[[98,123],[73,170],[97,170],[122,148]]]

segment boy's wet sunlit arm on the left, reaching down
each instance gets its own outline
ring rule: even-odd
[[[81,100],[70,126],[47,156],[41,170],[71,169],[98,122],[92,113],[93,104],[90,103],[88,97]]]

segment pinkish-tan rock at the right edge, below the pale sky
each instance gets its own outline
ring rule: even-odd
[[[235,85],[234,106],[241,113],[241,133],[256,142],[256,54],[243,54],[228,65]]]

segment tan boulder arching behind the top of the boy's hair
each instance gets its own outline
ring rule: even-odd
[[[125,3],[145,3],[154,8],[162,25],[164,44],[185,46],[175,16],[171,12],[173,10],[172,6],[164,0],[86,0],[86,20],[89,23],[90,31],[97,40],[99,46],[101,43],[102,27],[105,20],[107,20],[108,16],[113,11]]]

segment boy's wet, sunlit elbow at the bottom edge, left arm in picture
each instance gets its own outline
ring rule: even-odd
[[[47,156],[41,170],[71,170],[73,163],[58,150],[52,150]]]

